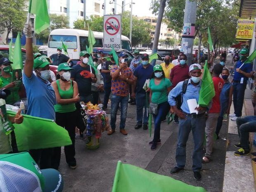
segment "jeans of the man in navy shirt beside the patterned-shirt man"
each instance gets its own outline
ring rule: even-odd
[[[149,95],[148,95],[149,98]],[[146,92],[136,92],[136,110],[137,110],[137,123],[142,125],[147,124],[149,118],[147,116],[147,101],[146,101]],[[143,108],[144,108],[144,116],[143,116]]]

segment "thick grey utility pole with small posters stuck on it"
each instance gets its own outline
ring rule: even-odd
[[[187,64],[190,66],[192,63],[192,51],[194,45],[194,33],[195,33],[195,23],[197,16],[197,0],[186,0],[185,15],[184,15],[184,26],[183,26],[183,36],[182,36],[182,49],[185,55],[187,55]],[[189,33],[185,35],[184,33],[190,29]],[[198,53],[200,54],[200,53]]]

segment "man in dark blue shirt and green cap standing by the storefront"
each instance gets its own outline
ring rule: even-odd
[[[249,55],[249,50],[243,48],[239,53],[239,60],[234,69],[235,74],[233,78],[233,104],[235,113],[230,114],[231,120],[236,121],[237,117],[242,116],[242,109],[244,104],[244,92],[247,85],[248,78],[252,76],[252,64],[244,63]]]

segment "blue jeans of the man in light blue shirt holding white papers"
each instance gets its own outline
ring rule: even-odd
[[[186,164],[186,145],[187,139],[192,130],[194,138],[194,152],[192,156],[193,171],[200,171],[202,167],[202,158],[204,155],[204,129],[205,129],[205,116],[199,118],[192,118],[186,116],[186,119],[179,120],[178,143],[176,149],[176,163],[178,168],[184,168]]]

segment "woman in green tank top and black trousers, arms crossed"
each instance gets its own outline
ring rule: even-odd
[[[65,146],[66,162],[69,167],[76,168],[75,159],[75,130],[76,130],[76,106],[79,102],[78,86],[76,81],[70,80],[70,71],[72,68],[67,63],[59,64],[58,74],[60,79],[52,82],[57,104],[54,106],[56,113],[56,123],[64,127],[68,132],[72,141],[72,145]],[[52,168],[58,169],[61,156],[61,147],[54,148],[52,157]]]

